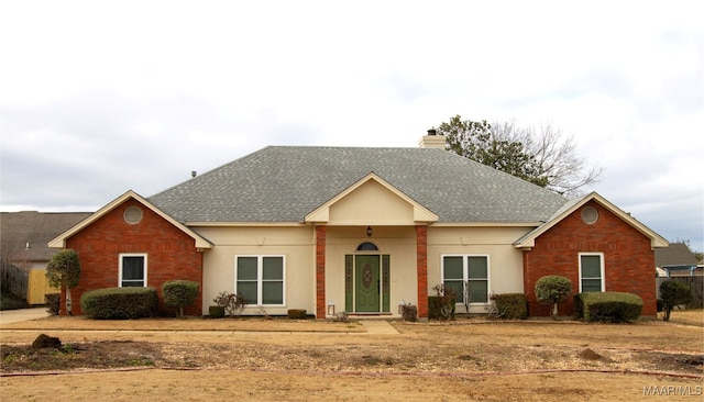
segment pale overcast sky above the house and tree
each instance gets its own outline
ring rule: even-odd
[[[597,191],[704,249],[697,1],[2,1],[2,211],[95,211],[266,145],[552,124]]]

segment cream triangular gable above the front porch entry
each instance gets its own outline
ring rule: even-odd
[[[306,215],[327,225],[415,225],[438,215],[371,172]]]

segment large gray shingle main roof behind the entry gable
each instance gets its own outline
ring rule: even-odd
[[[539,222],[568,200],[442,149],[270,146],[151,197],[182,222],[301,222],[370,172],[439,222]]]

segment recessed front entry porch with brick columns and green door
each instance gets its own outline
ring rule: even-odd
[[[427,226],[366,227],[316,226],[316,317],[332,305],[351,317],[399,317],[402,303],[427,317]]]

